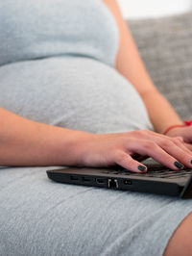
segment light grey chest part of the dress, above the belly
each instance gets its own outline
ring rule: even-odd
[[[113,66],[116,22],[102,0],[0,1],[0,65],[53,56]]]

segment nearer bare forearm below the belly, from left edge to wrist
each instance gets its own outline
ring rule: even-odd
[[[0,109],[0,166],[70,166],[76,143],[87,134]]]

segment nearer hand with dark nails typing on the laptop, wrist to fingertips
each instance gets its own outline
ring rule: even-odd
[[[136,159],[149,156],[171,169],[181,169],[180,163],[192,168],[192,152],[181,137],[171,138],[149,130],[87,135],[76,143],[73,152],[76,166],[119,165],[143,173],[147,166]]]

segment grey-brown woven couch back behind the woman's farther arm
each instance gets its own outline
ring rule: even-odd
[[[157,89],[191,118],[192,13],[127,22]]]

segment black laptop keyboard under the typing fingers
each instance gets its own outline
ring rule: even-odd
[[[155,177],[155,178],[167,178],[175,179],[179,177],[189,177],[192,174],[192,169],[187,167],[181,170],[173,170],[166,166],[159,166],[158,164],[153,166],[148,166],[148,171],[146,173],[136,173],[127,170],[126,168],[117,168],[111,170],[102,170],[102,173],[116,174],[116,175],[132,175],[132,176],[144,176],[144,177]]]

